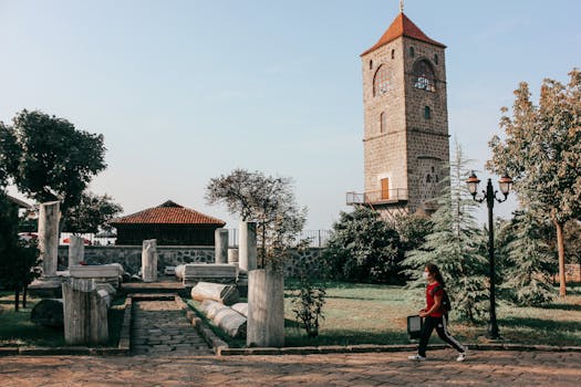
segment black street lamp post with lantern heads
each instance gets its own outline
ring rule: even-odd
[[[498,324],[496,322],[496,296],[495,296],[495,223],[492,219],[492,208],[495,207],[495,200],[499,203],[507,200],[510,187],[512,186],[512,179],[505,175],[498,180],[498,186],[500,191],[505,196],[504,198],[497,198],[496,195],[498,191],[492,189],[492,181],[488,179],[486,185],[486,191],[483,190],[483,197],[477,198],[478,184],[480,180],[476,177],[476,174],[473,171],[471,175],[466,180],[468,184],[468,190],[470,191],[474,200],[483,202],[486,200],[486,206],[488,207],[488,263],[489,263],[489,278],[490,278],[490,323],[488,325],[488,337],[497,339],[500,338],[500,333],[498,331]]]

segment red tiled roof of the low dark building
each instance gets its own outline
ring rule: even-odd
[[[164,202],[154,208],[128,215],[123,218],[114,219],[111,224],[219,224],[225,226],[226,222],[185,208],[175,203],[172,200]]]

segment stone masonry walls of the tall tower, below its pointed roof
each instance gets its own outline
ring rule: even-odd
[[[414,64],[422,60],[434,70],[434,90],[414,86]],[[388,82],[374,93],[380,67]],[[381,180],[388,178],[390,189],[407,194],[408,212],[429,212],[437,182],[449,174],[444,48],[402,35],[362,55],[362,70],[365,192],[381,191]]]

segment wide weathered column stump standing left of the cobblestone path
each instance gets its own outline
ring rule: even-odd
[[[97,291],[93,279],[71,278],[63,283],[66,344],[106,344],[110,302],[110,294],[105,290]]]

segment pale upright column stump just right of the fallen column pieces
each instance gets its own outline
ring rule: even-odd
[[[248,272],[247,346],[284,345],[284,281],[281,272]]]

